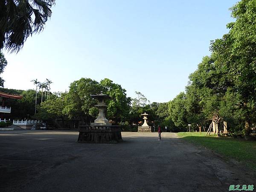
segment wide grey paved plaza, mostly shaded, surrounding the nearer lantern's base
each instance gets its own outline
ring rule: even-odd
[[[78,131],[1,131],[0,191],[198,192],[255,184],[250,172],[175,133],[122,132],[118,144],[76,143]]]

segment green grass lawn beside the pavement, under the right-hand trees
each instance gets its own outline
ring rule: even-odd
[[[200,145],[221,154],[225,159],[236,159],[256,170],[256,141],[205,136],[206,132],[177,133],[182,140]]]

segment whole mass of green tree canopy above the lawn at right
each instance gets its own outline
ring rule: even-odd
[[[236,20],[229,32],[211,41],[212,53],[190,74],[186,92],[169,102],[177,126],[205,125],[217,113],[230,131],[249,134],[256,122],[256,1],[241,0],[230,10]]]

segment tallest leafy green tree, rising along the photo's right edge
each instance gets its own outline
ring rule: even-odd
[[[224,70],[233,86],[230,92],[239,94],[237,103],[245,118],[245,133],[250,133],[256,103],[256,1],[241,0],[231,8],[236,21],[223,38],[212,41],[211,50],[217,64]]]

